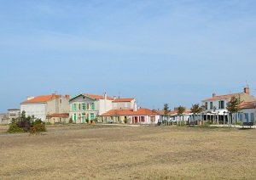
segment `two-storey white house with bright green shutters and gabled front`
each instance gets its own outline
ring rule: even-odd
[[[112,109],[113,98],[103,95],[80,93],[69,101],[69,118],[76,123],[84,123],[86,120],[92,121],[98,115],[102,115]]]

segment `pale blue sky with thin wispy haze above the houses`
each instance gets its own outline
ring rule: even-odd
[[[0,112],[107,92],[162,109],[256,94],[255,0],[0,0]]]

